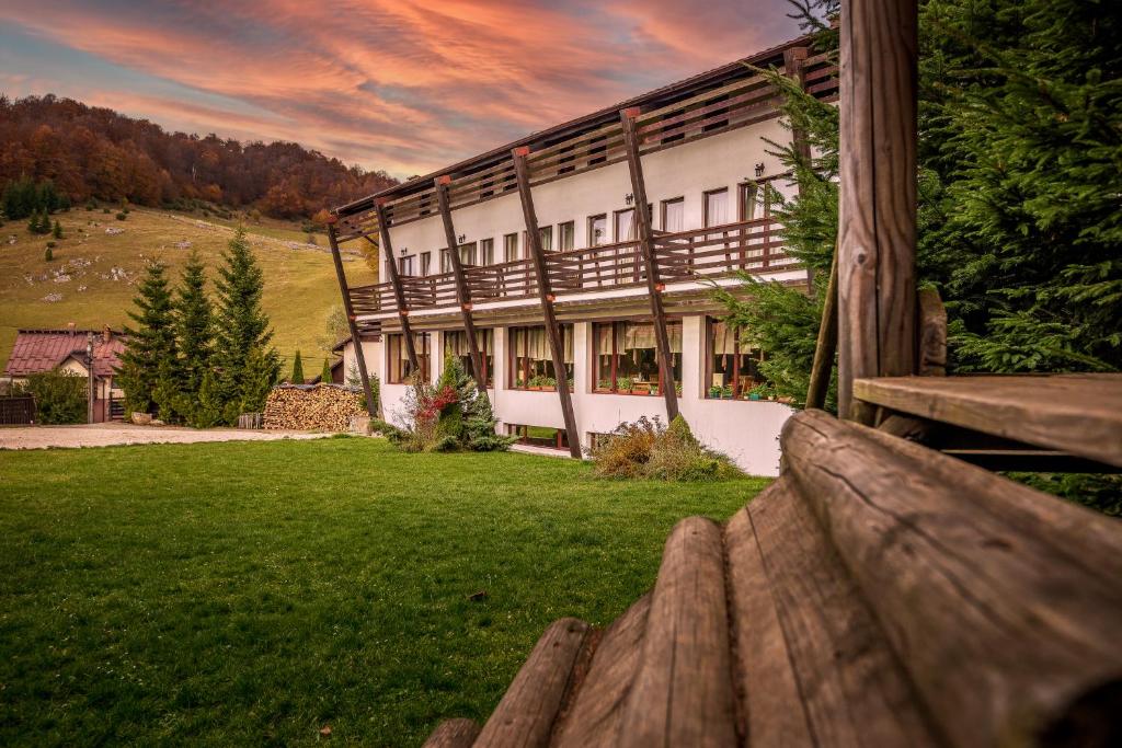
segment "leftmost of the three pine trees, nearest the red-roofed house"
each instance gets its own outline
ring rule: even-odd
[[[160,373],[168,376],[176,359],[172,294],[162,264],[148,265],[132,302],[137,311],[129,312],[129,318],[135,325],[125,327],[128,342],[120,355],[118,381],[130,412],[151,413]]]

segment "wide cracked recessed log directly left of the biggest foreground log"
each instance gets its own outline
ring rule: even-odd
[[[765,571],[771,593],[767,600],[757,591],[752,602],[774,606],[788,655],[776,661],[783,652],[774,641],[770,652],[758,653],[766,661],[738,653],[751,678],[745,691],[753,742],[776,745],[763,740],[761,731],[783,729],[790,731],[787,745],[939,745],[876,618],[790,479],[756,497],[747,515],[763,566],[755,573]],[[730,564],[733,558],[729,550]],[[747,616],[742,625],[767,626],[760,620],[765,610],[739,608]],[[761,672],[764,663],[766,673]],[[782,704],[778,696],[787,693],[771,692],[763,676],[784,666],[793,669],[800,698]],[[775,709],[795,713],[781,717],[771,712]],[[794,732],[793,722],[803,715],[813,741]]]

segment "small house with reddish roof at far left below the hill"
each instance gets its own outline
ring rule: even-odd
[[[65,330],[20,330],[4,378],[11,384],[27,381],[27,377],[42,371],[62,369],[89,378],[88,339],[93,338],[93,416],[96,422],[120,418],[123,415],[125,393],[114,385],[116,369],[125,350],[125,338],[110,330],[79,330],[73,324]]]

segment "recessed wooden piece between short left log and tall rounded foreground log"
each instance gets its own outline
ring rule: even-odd
[[[623,709],[638,667],[651,595],[608,627],[572,705],[555,731],[558,748],[608,748],[619,741]]]

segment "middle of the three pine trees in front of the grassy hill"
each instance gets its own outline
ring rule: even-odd
[[[203,376],[213,369],[214,322],[206,296],[206,269],[192,251],[183,267],[175,298],[175,332],[180,348],[180,391],[195,399]]]

